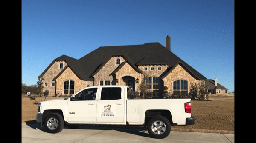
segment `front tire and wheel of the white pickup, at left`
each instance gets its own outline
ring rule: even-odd
[[[62,116],[58,113],[49,114],[44,120],[44,128],[49,133],[58,133],[64,128]]]

